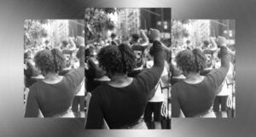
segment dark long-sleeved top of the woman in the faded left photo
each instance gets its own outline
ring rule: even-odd
[[[34,83],[28,94],[25,117],[37,117],[38,109],[44,117],[53,117],[67,111],[72,104],[75,89],[83,79],[84,68],[79,68],[67,73],[60,83]]]

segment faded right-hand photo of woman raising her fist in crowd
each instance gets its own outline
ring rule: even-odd
[[[236,117],[236,20],[172,20],[172,117]]]

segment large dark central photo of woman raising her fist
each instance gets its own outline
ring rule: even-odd
[[[171,8],[85,9],[86,129],[171,128],[171,19]]]

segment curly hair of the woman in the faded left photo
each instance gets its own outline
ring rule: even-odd
[[[58,72],[65,66],[65,58],[58,49],[38,51],[34,60],[40,71]]]

